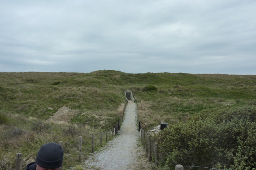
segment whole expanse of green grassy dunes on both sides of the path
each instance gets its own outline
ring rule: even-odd
[[[150,129],[160,122],[186,123],[205,109],[255,105],[256,76],[1,72],[0,169],[13,169],[16,153],[23,153],[25,166],[42,144],[59,141],[64,141],[64,166],[75,166],[76,138],[89,140],[91,132],[113,126],[120,119],[127,89],[137,98],[139,120]],[[61,109],[67,114],[53,119]],[[87,155],[90,146],[84,143]]]

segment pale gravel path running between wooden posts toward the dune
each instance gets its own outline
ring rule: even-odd
[[[137,106],[130,100],[126,105],[124,120],[118,134],[104,149],[84,162],[87,170],[150,169],[145,151],[139,143]]]

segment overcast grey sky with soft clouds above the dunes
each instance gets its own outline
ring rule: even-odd
[[[256,74],[255,0],[0,0],[0,72]]]

